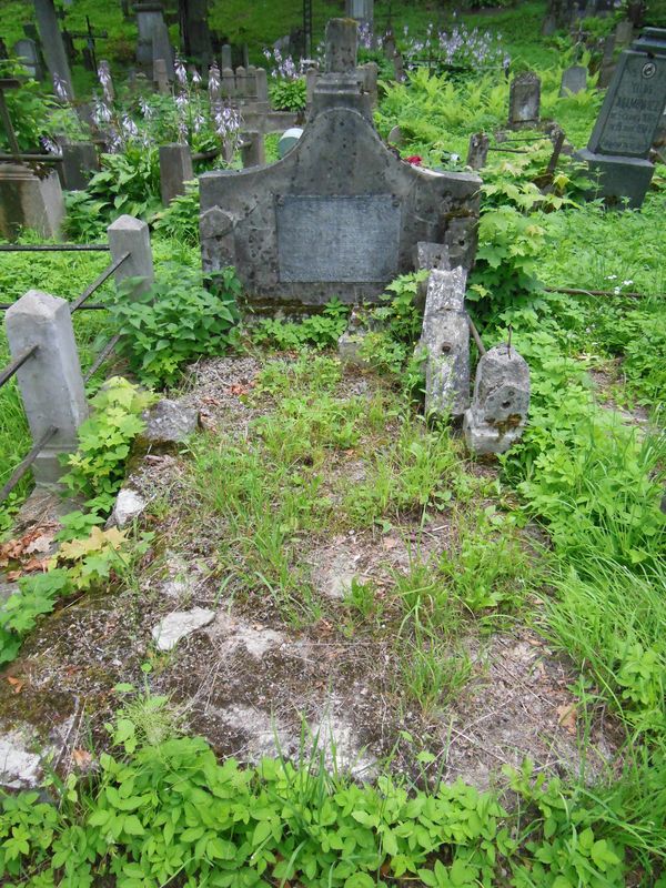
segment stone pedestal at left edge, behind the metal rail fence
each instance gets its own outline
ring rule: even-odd
[[[0,233],[16,240],[21,229],[34,229],[42,238],[59,238],[64,201],[58,173],[43,179],[27,167],[0,165]]]

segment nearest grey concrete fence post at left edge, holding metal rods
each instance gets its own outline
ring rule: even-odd
[[[58,430],[32,467],[38,485],[56,484],[64,473],[58,457],[77,448],[77,430],[88,416],[70,306],[63,299],[29,290],[8,309],[4,324],[13,357],[38,346],[18,371],[17,382],[32,440],[38,442],[50,426]]]

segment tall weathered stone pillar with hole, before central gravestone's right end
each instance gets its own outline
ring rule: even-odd
[[[470,404],[470,324],[465,312],[467,273],[431,271],[420,346],[426,352],[426,415],[461,416]]]

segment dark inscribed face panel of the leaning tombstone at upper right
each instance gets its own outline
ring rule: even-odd
[[[589,151],[647,158],[666,103],[666,58],[625,51],[589,139]]]

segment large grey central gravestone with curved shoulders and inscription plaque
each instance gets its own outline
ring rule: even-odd
[[[474,255],[481,181],[417,169],[384,145],[356,75],[356,23],[329,22],[303,135],[275,164],[204,173],[205,271],[234,265],[255,306],[376,299],[418,241]]]

